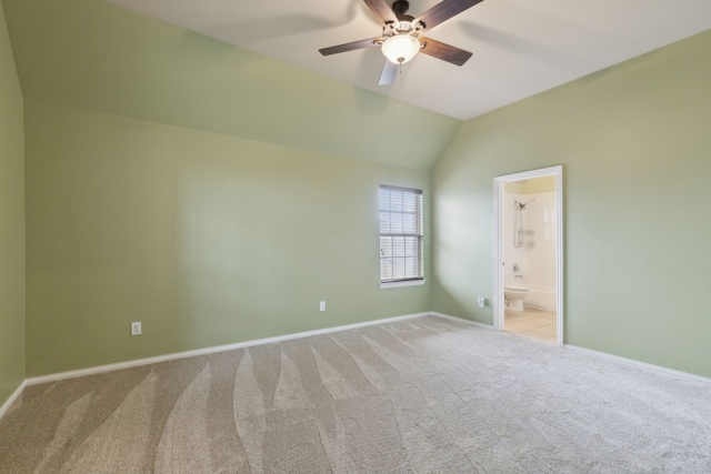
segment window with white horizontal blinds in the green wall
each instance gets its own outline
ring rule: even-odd
[[[421,284],[422,191],[380,186],[380,283]]]

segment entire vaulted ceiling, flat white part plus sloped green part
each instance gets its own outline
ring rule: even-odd
[[[120,114],[411,169],[462,120],[711,28],[709,0],[484,0],[378,87],[362,0],[1,0],[26,101]],[[435,0],[412,0],[411,12]]]

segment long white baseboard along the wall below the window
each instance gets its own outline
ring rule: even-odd
[[[49,375],[40,375],[40,376],[36,376],[36,377],[30,377],[30,379],[26,380],[26,382],[27,382],[27,385],[37,385],[39,383],[56,382],[56,381],[64,380],[64,379],[73,379],[73,377],[79,377],[79,376],[83,376],[83,375],[92,375],[92,374],[99,374],[99,373],[103,373],[103,372],[112,372],[112,371],[118,371],[118,370],[121,370],[121,369],[137,367],[137,366],[140,366],[140,365],[157,364],[159,362],[173,361],[176,359],[193,357],[193,356],[197,356],[197,355],[213,354],[216,352],[232,351],[234,349],[250,347],[250,346],[253,346],[253,345],[269,344],[269,343],[272,343],[272,342],[282,342],[282,341],[289,341],[289,340],[292,340],[292,339],[301,339],[301,337],[309,337],[309,336],[313,336],[313,335],[329,334],[329,333],[333,333],[333,332],[352,330],[352,329],[358,329],[358,327],[365,327],[365,326],[371,326],[371,325],[375,325],[375,324],[391,323],[391,322],[402,321],[402,320],[411,320],[411,319],[415,319],[415,317],[429,316],[430,314],[431,314],[430,312],[407,314],[407,315],[403,315],[403,316],[387,317],[387,319],[383,319],[383,320],[365,321],[365,322],[362,322],[362,323],[347,324],[347,325],[342,325],[342,326],[327,327],[327,329],[322,329],[322,330],[304,331],[304,332],[300,332],[300,333],[279,335],[279,336],[274,336],[274,337],[266,337],[266,339],[258,339],[258,340],[253,340],[253,341],[238,342],[238,343],[234,343],[234,344],[218,345],[218,346],[204,347],[204,349],[196,349],[193,351],[186,351],[186,352],[176,352],[176,353],[172,353],[172,354],[157,355],[154,357],[137,359],[137,360],[133,360],[133,361],[119,362],[119,363],[116,363],[116,364],[97,365],[97,366],[93,366],[93,367],[79,369],[79,370],[76,370],[76,371],[60,372],[60,373],[49,374]]]

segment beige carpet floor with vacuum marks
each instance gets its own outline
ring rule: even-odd
[[[422,317],[28,386],[1,473],[711,473],[711,385]]]

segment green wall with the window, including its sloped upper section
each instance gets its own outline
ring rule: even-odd
[[[378,288],[377,191],[429,195],[461,121],[100,0],[2,4],[28,376],[429,311]]]

